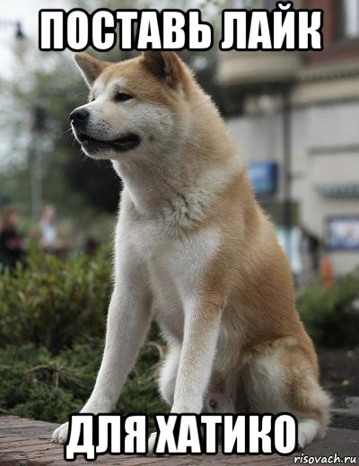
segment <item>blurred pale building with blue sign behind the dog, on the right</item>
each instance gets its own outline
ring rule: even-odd
[[[359,2],[294,4],[324,10],[324,50],[221,52],[223,112],[293,271],[307,272],[306,243],[341,275],[359,263]]]

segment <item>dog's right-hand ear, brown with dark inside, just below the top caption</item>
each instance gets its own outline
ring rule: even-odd
[[[146,50],[143,53],[144,64],[153,75],[162,78],[173,88],[180,85],[183,65],[180,57],[171,51]]]

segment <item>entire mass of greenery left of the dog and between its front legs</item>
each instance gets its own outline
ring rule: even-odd
[[[32,249],[27,266],[0,271],[0,412],[65,422],[83,407],[97,371],[111,292],[107,250],[58,259]],[[118,412],[163,412],[153,328],[118,401]]]

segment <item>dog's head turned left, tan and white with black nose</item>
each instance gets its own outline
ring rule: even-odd
[[[146,51],[117,64],[74,55],[90,101],[70,114],[74,136],[95,158],[151,156],[186,138],[192,80],[174,52]]]

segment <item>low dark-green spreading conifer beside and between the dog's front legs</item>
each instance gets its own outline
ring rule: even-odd
[[[0,412],[63,423],[83,407],[101,363],[102,344],[76,344],[51,356],[45,347],[0,350]],[[155,382],[159,355],[146,344],[118,401],[121,414],[166,412]]]

